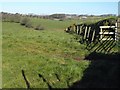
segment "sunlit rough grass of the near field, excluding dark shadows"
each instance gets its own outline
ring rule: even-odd
[[[87,52],[84,45],[63,31],[35,31],[17,23],[3,22],[2,48],[3,87],[6,88],[26,87],[22,69],[31,87],[47,87],[38,74],[53,83],[53,87],[67,87],[67,79],[72,77],[70,83],[75,82],[89,65],[89,61],[78,62]],[[60,82],[55,73],[61,78]]]

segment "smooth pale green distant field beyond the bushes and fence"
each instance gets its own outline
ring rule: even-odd
[[[71,20],[63,20],[63,21],[56,21],[50,19],[40,19],[40,18],[31,18],[31,22],[33,26],[37,24],[41,24],[46,30],[64,30],[70,25],[73,24],[81,24],[81,23],[93,23],[104,18],[87,18],[87,19],[71,19]]]

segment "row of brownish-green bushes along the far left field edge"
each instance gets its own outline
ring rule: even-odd
[[[5,12],[1,12],[0,14],[2,16],[3,22],[20,23],[20,25],[25,26],[27,28],[34,28],[35,30],[44,30],[44,27],[41,26],[41,24],[37,24],[36,26],[33,26],[30,16],[19,13],[11,14]]]

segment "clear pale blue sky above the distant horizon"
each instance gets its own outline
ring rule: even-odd
[[[0,11],[21,14],[118,14],[118,2],[2,2]]]

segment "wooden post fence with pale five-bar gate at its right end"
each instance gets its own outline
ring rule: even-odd
[[[103,40],[117,40],[117,23],[115,26],[99,26],[99,25],[86,25],[86,24],[73,24],[66,28],[66,32],[76,33],[81,35],[83,40],[93,42],[96,39]]]

